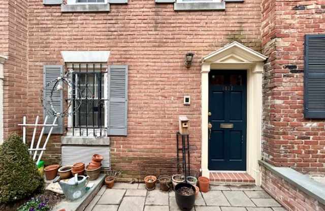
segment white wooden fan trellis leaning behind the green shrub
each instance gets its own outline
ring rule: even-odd
[[[44,123],[43,124],[38,124],[39,123],[39,116],[36,116],[35,124],[27,124],[26,123],[26,116],[24,116],[23,117],[22,124],[18,124],[18,126],[22,126],[22,140],[23,140],[24,144],[26,144],[26,128],[29,127],[29,126],[30,127],[31,126],[34,126],[34,130],[32,132],[32,137],[31,137],[31,142],[30,142],[30,148],[28,148],[28,150],[29,150],[30,155],[32,155],[34,153],[34,156],[32,157],[32,159],[34,161],[36,160],[38,151],[41,151],[40,154],[39,154],[39,157],[37,159],[36,164],[38,164],[40,162],[40,160],[41,160],[41,158],[43,156],[43,152],[44,152],[44,150],[46,150],[46,145],[47,145],[47,142],[50,139],[50,136],[51,136],[53,127],[57,126],[55,124],[56,123],[56,120],[57,120],[57,116],[54,118],[54,121],[53,121],[52,124],[46,124],[46,122],[47,122],[47,116],[45,116]],[[37,131],[37,128],[40,127],[40,126],[42,126],[42,130],[41,130],[41,133],[40,133],[40,136],[39,136],[37,145],[34,148],[36,131]],[[41,140],[42,140],[42,137],[43,137],[43,134],[44,134],[45,127],[51,127],[51,128],[50,128],[49,133],[47,134],[47,137],[45,139],[45,142],[44,142],[43,147],[40,148],[40,144],[41,144]]]

